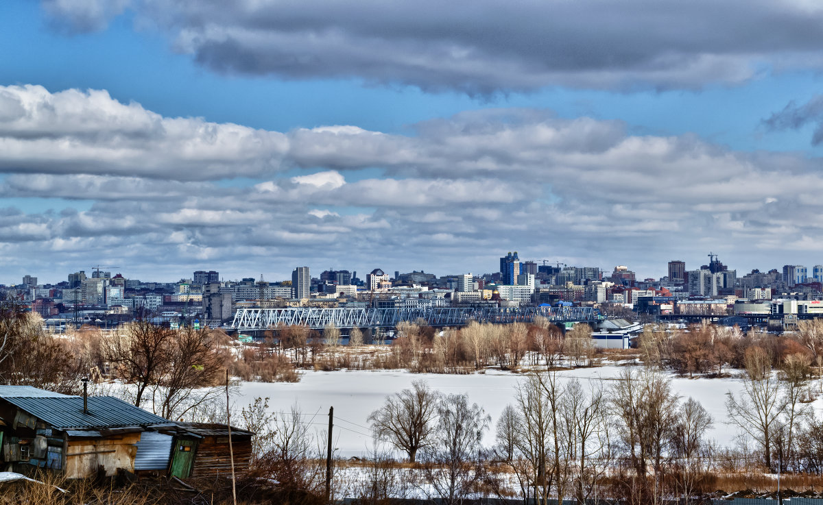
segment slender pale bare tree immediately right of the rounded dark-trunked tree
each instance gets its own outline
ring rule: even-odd
[[[483,476],[481,436],[491,423],[480,405],[466,395],[441,398],[433,441],[425,447],[423,474],[442,503],[454,505],[475,491]]]

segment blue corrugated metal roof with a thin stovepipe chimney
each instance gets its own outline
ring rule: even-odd
[[[83,414],[82,396],[12,396],[4,400],[44,420],[56,429],[116,428],[169,423],[159,415],[146,412],[114,396],[89,396],[88,414]]]

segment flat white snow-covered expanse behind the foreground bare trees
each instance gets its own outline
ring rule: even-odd
[[[604,386],[611,386],[613,379],[624,367],[607,365],[596,368],[577,368],[558,372],[558,377],[570,380],[578,378],[582,382],[602,380]],[[726,392],[737,395],[742,390],[742,382],[737,378],[677,378],[672,377],[672,390],[684,399],[691,396],[700,401],[714,418],[714,427],[709,437],[718,443],[732,445],[737,429],[728,424],[726,414]],[[436,373],[409,373],[400,370],[344,370],[334,372],[305,372],[300,382],[243,382],[239,396],[233,402],[239,409],[248,405],[254,397],[269,397],[273,412],[287,413],[292,405],[297,405],[304,422],[313,423],[319,431],[328,425],[328,407],[334,407],[335,445],[337,454],[343,457],[365,456],[372,447],[369,422],[366,418],[383,404],[388,395],[410,387],[412,381],[422,379],[433,389],[451,393],[467,393],[470,401],[486,409],[495,423],[508,404],[514,404],[515,387],[523,380],[522,375],[487,370],[486,373],[468,375],[447,375]],[[823,401],[814,403],[815,410],[823,408]],[[483,440],[489,447],[494,443],[494,429],[486,432]]]

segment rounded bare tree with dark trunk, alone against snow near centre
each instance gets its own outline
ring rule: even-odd
[[[387,396],[383,406],[369,415],[369,422],[378,438],[406,452],[414,462],[417,452],[432,443],[438,401],[439,393],[425,381],[413,381],[412,389]]]

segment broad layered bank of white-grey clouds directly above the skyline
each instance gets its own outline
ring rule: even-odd
[[[105,91],[7,86],[0,97],[0,192],[30,204],[0,209],[0,252],[33,267],[97,257],[159,276],[202,260],[245,276],[276,263],[285,276],[390,258],[391,270],[482,272],[510,249],[653,275],[672,257],[702,262],[704,248],[748,258],[741,269],[779,266],[789,243],[819,262],[809,238],[823,232],[823,175],[802,156],[545,110],[457,114],[410,135],[267,132],[165,118]],[[213,182],[237,175],[253,182]],[[35,210],[46,197],[65,209]]]

